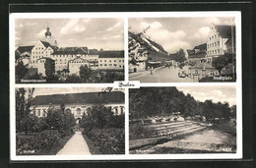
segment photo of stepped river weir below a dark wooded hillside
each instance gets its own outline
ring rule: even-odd
[[[129,153],[236,153],[236,86],[129,89]]]

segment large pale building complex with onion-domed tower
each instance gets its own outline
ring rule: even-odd
[[[54,60],[55,74],[69,72],[79,75],[80,66],[87,65],[92,70],[124,71],[124,51],[98,51],[88,47],[62,47],[51,38],[49,27],[46,28],[45,39],[38,40],[32,46],[19,46],[16,50],[18,61],[23,61],[29,68],[38,69],[37,73],[45,76],[42,58]]]

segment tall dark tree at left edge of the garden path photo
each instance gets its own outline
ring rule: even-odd
[[[32,103],[32,94],[33,94],[34,88],[28,88],[28,95],[26,98],[26,88],[18,88],[16,90],[16,126],[17,130],[19,132],[22,131],[22,125],[29,126],[27,122],[30,122],[28,120],[30,118],[31,113],[31,103]],[[28,127],[27,127],[28,128]],[[28,129],[26,129],[26,135],[27,135]]]

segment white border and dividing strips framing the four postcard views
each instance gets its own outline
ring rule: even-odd
[[[236,153],[216,154],[129,154],[129,92],[125,88],[125,154],[117,155],[16,155],[15,126],[15,87],[99,87],[113,84],[15,84],[15,19],[51,19],[51,18],[123,18],[125,65],[128,65],[128,19],[129,18],[200,18],[200,17],[235,17],[236,25],[236,83],[147,83],[141,86],[206,86],[235,85],[236,86]],[[18,160],[152,160],[152,159],[238,159],[242,158],[242,85],[241,85],[241,14],[233,12],[105,12],[105,13],[12,13],[10,14],[10,158]],[[125,82],[128,82],[128,66],[125,66]]]

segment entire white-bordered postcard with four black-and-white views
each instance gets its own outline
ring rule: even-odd
[[[239,12],[10,14],[10,157],[241,158]]]

